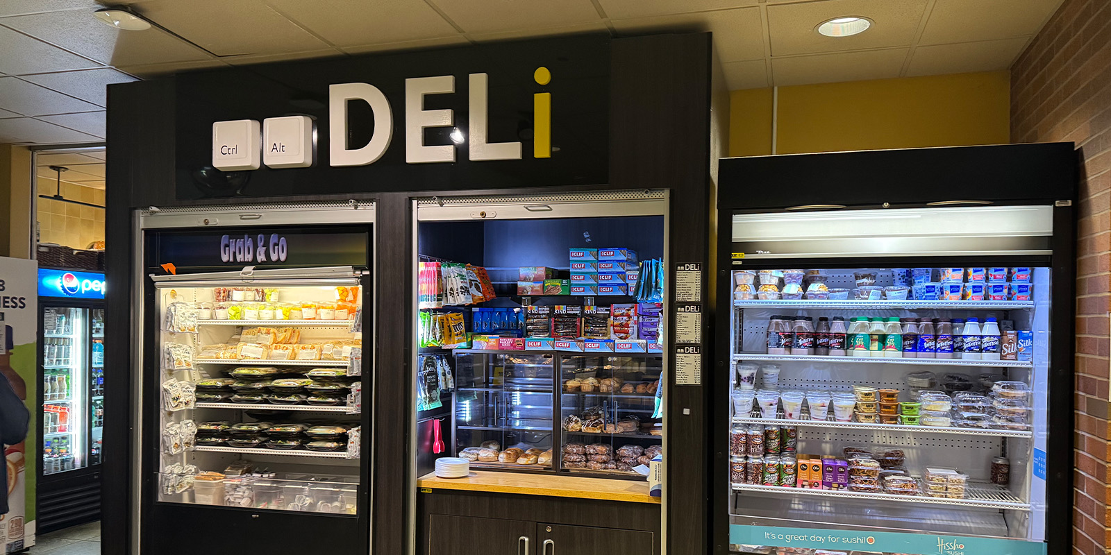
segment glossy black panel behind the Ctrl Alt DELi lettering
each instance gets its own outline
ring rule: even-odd
[[[282,62],[183,73],[177,78],[177,198],[274,196],[601,184],[609,179],[609,39],[572,37],[466,48]],[[547,73],[538,69],[547,69]],[[488,143],[520,142],[519,160],[470,160],[471,74],[487,74]],[[424,110],[450,109],[452,127],[430,127],[426,145],[454,144],[454,162],[408,163],[406,79],[453,75],[454,92],[426,94]],[[368,83],[390,105],[392,139],[368,165],[332,167],[329,85]],[[534,107],[550,101],[550,158],[534,155]],[[476,98],[478,98],[476,95]],[[374,113],[348,105],[349,149],[370,142]],[[312,168],[220,172],[212,165],[212,123],[309,115],[317,129]],[[644,114],[650,118],[651,114]],[[452,141],[459,129],[462,143]],[[411,130],[410,130],[411,131]],[[342,133],[342,131],[339,131]]]

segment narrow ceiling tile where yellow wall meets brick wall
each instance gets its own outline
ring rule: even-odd
[[[908,77],[1004,70],[1025,48],[1029,37],[918,47]]]

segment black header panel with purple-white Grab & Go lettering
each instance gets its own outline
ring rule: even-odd
[[[161,231],[148,235],[156,274],[280,268],[370,268],[366,228],[252,226]]]

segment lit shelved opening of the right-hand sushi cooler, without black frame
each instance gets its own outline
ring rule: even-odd
[[[734,215],[733,552],[1045,553],[1051,213]]]

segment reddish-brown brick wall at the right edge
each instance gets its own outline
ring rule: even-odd
[[[1111,1],[1065,0],[1011,68],[1011,141],[1080,151],[1073,553],[1108,553]]]

